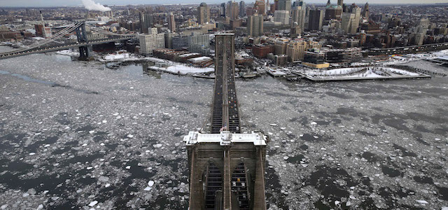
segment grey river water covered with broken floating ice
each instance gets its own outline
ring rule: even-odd
[[[0,209],[187,209],[181,140],[207,120],[213,80],[143,69],[0,60]],[[447,90],[237,80],[242,122],[271,137],[269,209],[447,207]]]

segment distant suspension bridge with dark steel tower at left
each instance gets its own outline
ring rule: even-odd
[[[17,50],[12,50],[8,52],[0,53],[0,59],[7,59],[11,57],[20,57],[24,55],[31,55],[43,52],[55,52],[59,50],[66,50],[69,48],[79,48],[79,58],[88,59],[90,57],[90,48],[92,45],[98,45],[102,43],[110,43],[116,41],[125,41],[134,38],[136,35],[132,34],[115,34],[110,31],[104,31],[102,29],[94,29],[95,31],[106,34],[110,36],[109,38],[88,40],[87,33],[85,31],[85,22],[75,22],[68,25],[57,34],[54,34],[48,38],[27,45],[24,48],[19,48]],[[59,43],[57,40],[63,38],[67,34],[72,34],[76,32],[77,40],[74,43]],[[57,44],[55,44],[57,43]]]

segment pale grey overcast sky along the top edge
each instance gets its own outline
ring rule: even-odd
[[[155,3],[223,3],[228,0],[96,0],[95,2],[109,4],[109,5],[123,5],[123,4],[155,4]],[[245,0],[246,3],[252,3],[255,0]],[[274,0],[269,0],[269,2]],[[294,0],[293,0],[294,1]],[[327,0],[304,0],[306,3],[326,3]],[[345,0],[345,3],[365,3],[367,0]],[[332,0],[336,3],[337,0]],[[448,0],[368,0],[372,3],[448,3]],[[0,7],[2,6],[80,6],[80,0],[0,0]]]

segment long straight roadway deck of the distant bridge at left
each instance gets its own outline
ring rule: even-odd
[[[24,56],[24,55],[36,54],[36,53],[55,52],[55,51],[59,51],[59,50],[66,50],[69,48],[78,48],[81,46],[97,45],[97,44],[109,43],[109,42],[114,42],[114,41],[125,41],[130,38],[134,38],[134,37],[135,36],[125,36],[125,37],[120,37],[120,38],[104,38],[104,39],[90,40],[87,42],[69,43],[69,44],[64,44],[64,45],[53,45],[53,46],[45,47],[45,48],[34,48],[34,49],[29,49],[29,50],[23,50],[20,52],[4,52],[4,53],[0,53],[0,59],[19,57],[19,56]]]

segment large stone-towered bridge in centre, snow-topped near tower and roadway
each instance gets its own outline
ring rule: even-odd
[[[211,134],[183,137],[190,168],[190,210],[265,210],[267,137],[241,133],[235,90],[235,36],[216,34]]]

